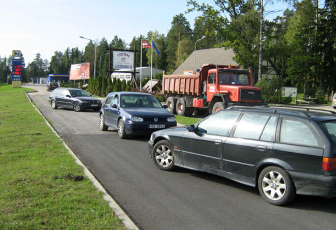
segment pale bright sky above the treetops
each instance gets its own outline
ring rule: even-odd
[[[67,47],[84,50],[89,40],[111,42],[117,35],[129,44],[149,31],[167,35],[173,17],[189,8],[186,0],[0,0],[0,57],[21,50],[25,64],[37,53],[50,61],[55,51]],[[199,0],[214,6],[213,0]],[[269,5],[281,10],[287,5]],[[191,28],[199,12],[185,14]]]

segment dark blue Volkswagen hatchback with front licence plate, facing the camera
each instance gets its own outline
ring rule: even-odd
[[[103,102],[99,116],[100,129],[117,129],[120,138],[150,135],[154,131],[176,126],[174,114],[153,95],[146,93],[110,93]]]

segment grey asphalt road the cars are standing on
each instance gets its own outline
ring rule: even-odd
[[[99,130],[98,112],[51,109],[45,85],[23,86],[39,91],[30,96],[43,115],[141,229],[336,229],[336,198],[300,195],[277,207],[225,178],[159,170],[149,137],[119,139]]]

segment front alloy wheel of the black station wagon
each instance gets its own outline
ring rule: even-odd
[[[152,157],[155,165],[162,170],[172,170],[175,167],[173,150],[167,140],[160,140],[156,143]]]

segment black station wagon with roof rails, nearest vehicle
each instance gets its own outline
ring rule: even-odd
[[[155,165],[209,172],[258,187],[266,202],[296,194],[336,195],[336,116],[332,111],[230,107],[195,125],[156,131]]]

